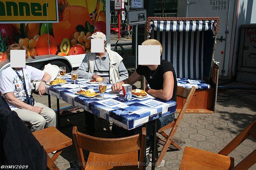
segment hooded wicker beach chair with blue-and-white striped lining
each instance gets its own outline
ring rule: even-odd
[[[218,27],[218,17],[147,19],[145,39],[160,41],[161,58],[173,64],[178,86],[197,89],[187,113],[214,112],[219,76],[219,63],[214,61]],[[141,84],[145,84],[144,77]],[[183,104],[184,99],[177,98],[177,112]]]

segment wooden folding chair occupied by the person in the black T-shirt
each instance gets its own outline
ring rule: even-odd
[[[161,150],[161,153],[160,153],[160,155],[159,155],[159,157],[156,161],[156,165],[159,165],[159,163],[161,163],[161,161],[163,160],[163,157],[164,157],[165,153],[167,152],[167,149],[169,148],[170,144],[173,145],[178,150],[181,150],[181,147],[173,140],[173,136],[174,136],[181,120],[182,120],[182,117],[184,116],[184,113],[186,112],[187,106],[189,105],[195,90],[196,90],[196,88],[194,86],[191,89],[183,88],[183,87],[178,86],[177,96],[182,97],[183,99],[186,99],[186,102],[184,103],[182,109],[180,110],[180,113],[179,113],[177,119],[174,119],[174,121],[172,121],[170,124],[167,124],[166,126],[163,126],[157,132],[160,135],[162,135],[163,137],[165,137],[166,140],[161,139],[160,137],[158,137],[158,140],[165,142],[165,144],[163,145],[163,149]],[[170,128],[172,128],[172,130],[169,133],[169,135],[167,135],[164,131],[167,130],[167,129],[170,129]]]

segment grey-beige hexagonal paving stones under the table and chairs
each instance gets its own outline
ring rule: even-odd
[[[36,99],[38,102],[47,104],[47,97]],[[60,102],[60,106],[67,106],[65,102]],[[56,100],[52,98],[52,106],[56,108]],[[226,102],[218,102],[213,114],[185,114],[178,130],[174,136],[174,140],[182,146],[182,150],[169,149],[165,154],[165,165],[158,167],[158,170],[178,170],[182,154],[185,146],[191,146],[210,152],[218,153],[226,144],[228,144],[236,135],[246,128],[250,122],[256,119],[256,106],[247,104],[239,99]],[[69,125],[69,126],[66,126]],[[72,138],[72,127],[78,126],[78,130],[83,132],[84,115],[78,113],[76,115],[61,117],[60,129],[62,133]],[[95,117],[96,136],[112,137],[111,124],[105,120]],[[170,132],[170,131],[169,131]],[[167,131],[167,133],[169,133]],[[161,145],[158,145],[160,153]],[[256,148],[256,143],[252,138],[246,139],[231,154],[235,159],[235,165],[245,158],[250,152]],[[69,161],[77,160],[74,144],[66,148],[56,164],[60,170],[69,168]],[[147,169],[150,169],[147,167]],[[255,170],[253,165],[250,170]]]

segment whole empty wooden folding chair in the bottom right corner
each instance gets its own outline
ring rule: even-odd
[[[247,137],[256,139],[256,120],[239,133],[218,154],[186,146],[180,170],[247,170],[256,163],[256,149],[234,166],[234,158],[227,156]]]

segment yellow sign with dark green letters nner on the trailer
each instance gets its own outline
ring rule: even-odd
[[[58,0],[0,0],[0,23],[58,22]]]

